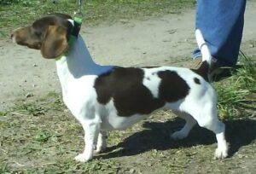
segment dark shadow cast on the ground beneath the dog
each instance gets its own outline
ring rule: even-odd
[[[256,138],[256,120],[240,119],[224,121],[226,125],[226,139],[230,143],[230,156],[239,148],[251,143]],[[96,158],[110,159],[119,156],[142,154],[151,149],[166,150],[169,148],[192,147],[197,144],[209,145],[216,143],[212,131],[195,125],[189,136],[183,140],[174,141],[170,133],[181,129],[183,119],[175,119],[165,123],[145,122],[143,131],[134,133],[119,144],[107,148],[107,154],[100,154]]]

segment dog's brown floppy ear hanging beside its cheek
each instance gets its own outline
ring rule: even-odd
[[[48,26],[41,46],[44,58],[56,58],[63,54],[67,47],[67,30],[61,26]]]

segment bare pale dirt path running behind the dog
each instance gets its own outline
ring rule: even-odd
[[[256,54],[256,2],[248,1],[241,49]],[[130,66],[193,65],[195,10],[160,18],[120,20],[112,26],[82,27],[82,36],[96,62]],[[0,40],[0,109],[28,93],[45,95],[60,91],[55,62],[44,60],[37,50]]]

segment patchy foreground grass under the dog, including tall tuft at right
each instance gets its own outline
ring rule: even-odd
[[[199,126],[188,138],[171,141],[169,134],[184,122],[171,112],[161,111],[126,131],[110,132],[106,153],[90,162],[77,163],[73,157],[84,148],[84,132],[67,112],[60,94],[49,92],[42,98],[18,101],[15,107],[1,112],[0,173],[255,171],[256,120],[251,108],[255,106],[255,70],[251,62],[251,58],[244,57],[241,69],[214,84],[230,142],[228,159],[212,159],[215,137]]]

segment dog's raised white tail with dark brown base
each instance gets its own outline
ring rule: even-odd
[[[198,44],[198,48],[201,49],[201,56],[202,56],[202,61],[201,61],[201,66],[196,69],[196,73],[199,73],[203,78],[205,78],[207,81],[208,80],[208,73],[209,73],[209,67],[211,65],[212,61],[212,55],[210,53],[210,50],[207,47],[206,41],[202,36],[202,33],[199,29],[195,30],[195,38],[196,42]]]

